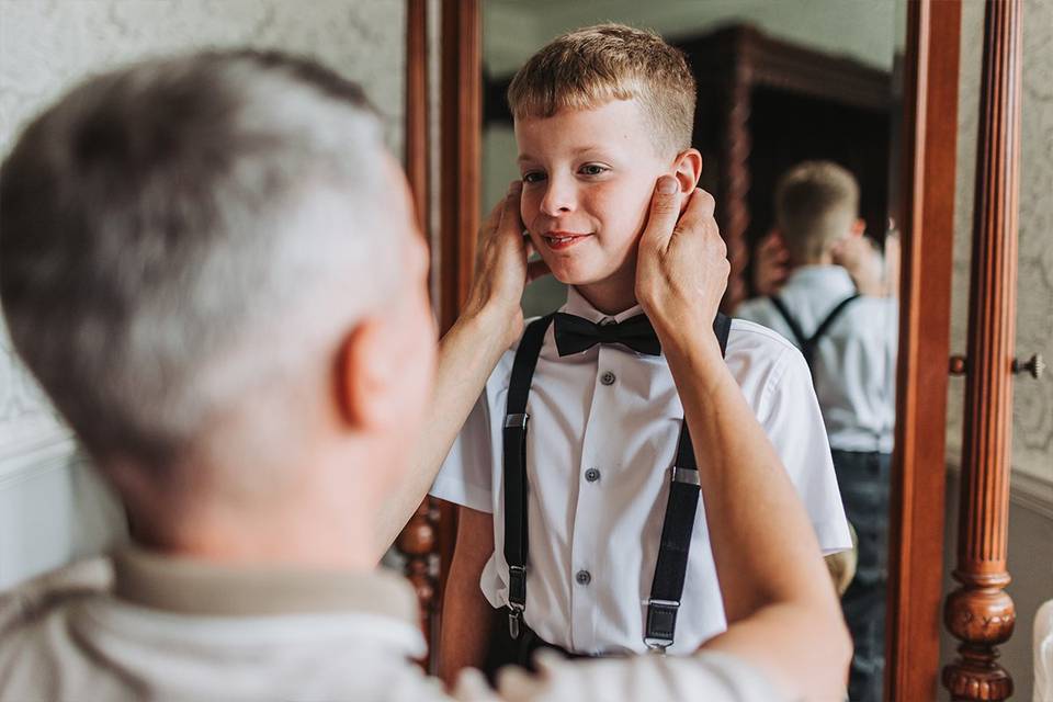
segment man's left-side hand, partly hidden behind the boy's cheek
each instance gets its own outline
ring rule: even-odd
[[[522,181],[513,181],[508,194],[487,216],[479,230],[479,249],[472,291],[463,316],[486,316],[494,320],[505,348],[523,333],[520,299],[526,283],[548,272],[544,261],[528,261],[533,247],[523,235],[519,215]]]

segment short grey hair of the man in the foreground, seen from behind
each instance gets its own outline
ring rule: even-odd
[[[116,70],[25,128],[0,169],[0,301],[92,457],[208,462],[211,427],[268,407],[294,431],[283,388],[394,290],[385,158],[358,86],[276,53]]]

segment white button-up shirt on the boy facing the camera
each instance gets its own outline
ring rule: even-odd
[[[574,288],[562,312],[601,324],[609,319]],[[613,319],[638,314],[635,307]],[[492,513],[495,554],[480,586],[495,608],[508,603],[501,430],[513,359],[509,351],[498,363],[432,487],[435,497]],[[782,457],[819,544],[826,553],[850,548],[801,353],[777,333],[735,320],[726,361]],[[543,639],[575,652],[643,653],[668,468],[683,419],[666,359],[619,344],[559,358],[550,328],[526,411],[525,621]],[[691,652],[726,629],[701,501],[691,544],[671,653]]]

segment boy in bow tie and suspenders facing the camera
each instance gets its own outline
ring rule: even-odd
[[[509,89],[524,228],[570,290],[498,364],[432,490],[462,506],[440,645],[448,679],[464,666],[526,665],[547,645],[688,653],[725,627],[682,460],[683,410],[635,295],[656,181],[671,176],[690,193],[701,173],[694,97],[682,54],[620,25],[555,39]],[[820,546],[850,547],[800,353],[757,325],[715,326]],[[523,360],[528,347],[535,361]]]

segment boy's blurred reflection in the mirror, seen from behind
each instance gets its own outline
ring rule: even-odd
[[[862,236],[859,185],[845,168],[806,161],[790,169],[775,189],[775,219],[789,278],[735,314],[794,340],[812,366],[859,536],[856,578],[841,602],[856,644],[849,695],[881,700],[898,307]]]

